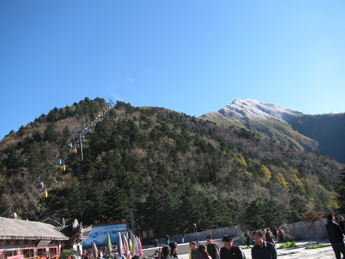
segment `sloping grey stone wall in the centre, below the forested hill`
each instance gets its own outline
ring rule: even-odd
[[[232,227],[227,227],[227,228],[218,228],[218,229],[212,229],[212,230],[207,230],[207,231],[202,231],[202,232],[196,232],[196,233],[190,233],[187,235],[179,235],[179,236],[171,236],[170,237],[170,242],[175,241],[176,243],[181,243],[182,238],[185,238],[185,242],[191,242],[195,241],[196,238],[199,240],[206,240],[206,237],[208,235],[211,235],[212,239],[218,239],[218,238],[223,238],[226,235],[230,235],[232,237],[235,236],[243,236],[243,232],[241,231],[241,228],[239,225],[237,226],[232,226]],[[157,239],[158,244],[164,244],[165,243],[165,237]],[[151,240],[154,242],[154,239]]]

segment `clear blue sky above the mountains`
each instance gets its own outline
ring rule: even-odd
[[[235,98],[345,112],[345,1],[0,1],[0,138],[103,97],[199,116]]]

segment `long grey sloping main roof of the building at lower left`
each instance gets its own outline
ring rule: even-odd
[[[0,217],[0,240],[4,239],[68,240],[70,237],[50,224]]]

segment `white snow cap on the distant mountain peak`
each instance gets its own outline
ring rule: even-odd
[[[294,114],[303,114],[302,112],[276,104],[263,103],[254,99],[240,100],[238,98],[231,104],[221,108],[218,113],[240,124],[246,123],[248,120],[260,120],[260,118],[276,122],[286,122]]]

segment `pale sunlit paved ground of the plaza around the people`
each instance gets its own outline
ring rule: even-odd
[[[213,240],[216,242],[221,248],[223,246],[221,240]],[[235,242],[236,243],[236,242]],[[319,239],[320,244],[329,245],[328,239]],[[201,241],[201,244],[205,244],[205,241]],[[276,243],[276,247],[279,247],[280,243]],[[277,249],[278,258],[279,259],[318,259],[318,258],[329,258],[333,259],[335,258],[333,249],[331,246],[328,247],[322,247],[322,248],[316,248],[316,249],[305,249],[307,246],[311,246],[316,244],[315,239],[308,239],[308,240],[299,240],[296,241],[296,247],[292,248],[283,248],[283,249]],[[178,258],[179,259],[188,259],[189,253],[187,253],[188,243],[185,244],[178,244]],[[179,249],[180,248],[180,249]],[[151,252],[152,249],[145,249],[146,256]],[[145,250],[143,250],[145,255]],[[179,252],[180,251],[180,252]],[[154,252],[154,251],[153,251]],[[243,252],[247,259],[251,259],[251,249],[243,249]]]

